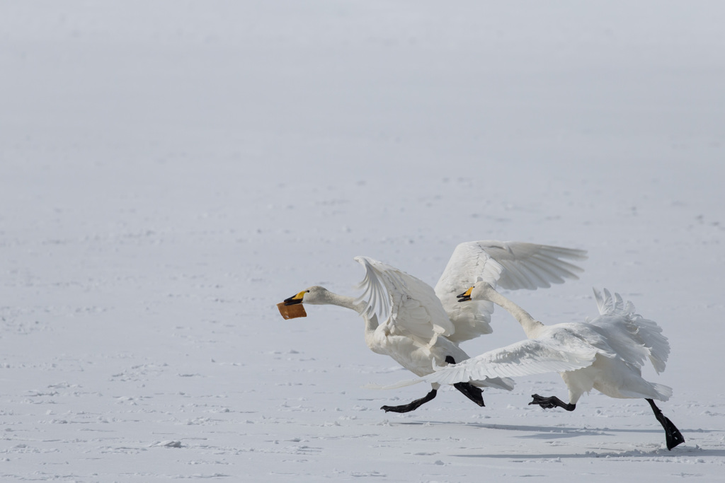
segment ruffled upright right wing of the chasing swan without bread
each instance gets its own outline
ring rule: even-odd
[[[618,293],[604,289],[602,295],[595,289],[594,295],[601,315],[587,322],[605,335],[618,357],[639,367],[649,358],[658,374],[664,371],[670,344],[657,322],[635,313],[634,304]]]

